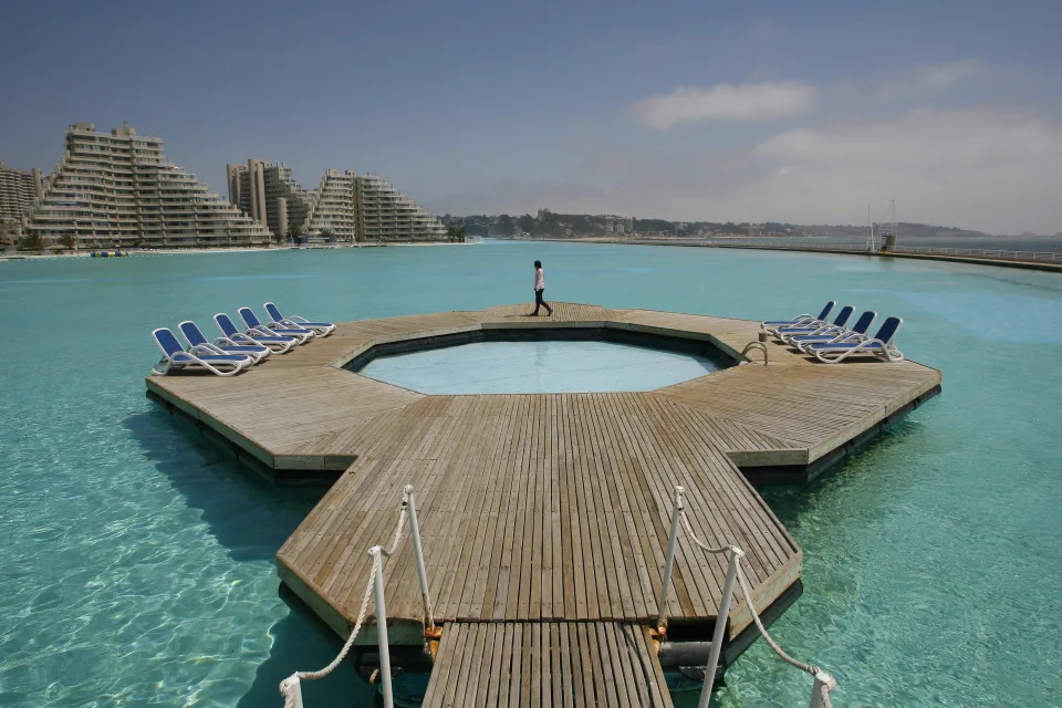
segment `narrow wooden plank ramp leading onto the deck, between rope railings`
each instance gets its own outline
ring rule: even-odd
[[[616,622],[446,625],[424,708],[669,707],[648,629]]]

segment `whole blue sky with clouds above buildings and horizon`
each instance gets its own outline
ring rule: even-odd
[[[0,160],[128,121],[436,214],[1062,231],[1062,2],[0,2]]]

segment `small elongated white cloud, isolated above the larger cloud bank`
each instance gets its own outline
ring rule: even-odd
[[[811,111],[818,95],[813,84],[801,81],[678,86],[635,101],[631,111],[638,122],[666,131],[707,118],[757,121],[798,115]]]

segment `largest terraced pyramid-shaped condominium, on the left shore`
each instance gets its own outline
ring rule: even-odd
[[[271,235],[195,175],[166,159],[163,140],[128,124],[66,131],[66,150],[29,222],[45,241],[81,247],[258,246]]]

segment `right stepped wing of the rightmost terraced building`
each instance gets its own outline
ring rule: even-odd
[[[366,241],[440,241],[446,227],[379,175],[357,178],[357,231]]]

